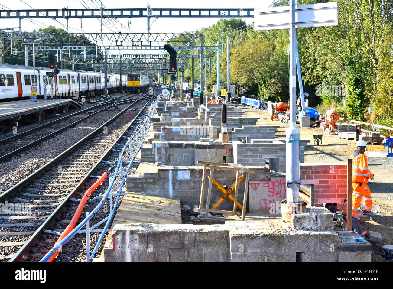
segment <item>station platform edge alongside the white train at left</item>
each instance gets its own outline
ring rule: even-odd
[[[46,110],[68,110],[68,107],[81,108],[81,105],[72,99],[37,99],[32,102],[30,99],[8,101],[0,103],[0,121],[20,118],[28,114],[39,114]]]

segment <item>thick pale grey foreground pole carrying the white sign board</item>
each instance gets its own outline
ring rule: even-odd
[[[300,130],[296,127],[296,0],[290,0],[291,25],[289,27],[290,54],[290,126],[286,129],[286,202],[299,202],[300,160],[299,143]]]

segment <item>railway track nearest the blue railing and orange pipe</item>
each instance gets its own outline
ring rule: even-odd
[[[19,210],[12,214],[0,214],[0,260],[26,259],[42,230],[55,221],[68,200],[83,188],[101,160],[113,153],[116,142],[132,123],[138,121],[152,98],[154,96],[148,101],[133,101],[92,133],[0,195],[3,204],[20,204],[19,208],[28,208],[24,212]],[[108,128],[107,133],[104,127]]]

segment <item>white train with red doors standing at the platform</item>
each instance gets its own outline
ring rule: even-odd
[[[61,69],[52,78],[46,77],[50,68],[0,64],[0,101],[12,101],[31,96],[31,83],[37,83],[37,97],[52,94],[57,98],[80,99],[104,94],[105,74],[103,72]],[[108,93],[127,87],[127,74],[107,74]]]

